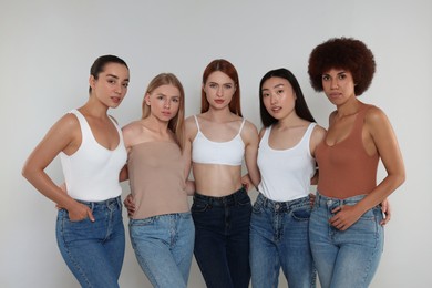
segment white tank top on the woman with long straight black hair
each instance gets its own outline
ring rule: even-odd
[[[287,202],[309,194],[310,178],[316,171],[310,155],[310,135],[316,123],[310,123],[300,142],[288,150],[274,150],[268,145],[271,127],[266,128],[258,148],[261,182],[258,191],[275,202]]]

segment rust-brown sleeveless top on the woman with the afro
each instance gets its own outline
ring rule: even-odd
[[[346,140],[330,146],[323,140],[316,150],[319,166],[318,191],[325,196],[348,198],[369,194],[377,186],[379,155],[369,156],[361,137],[364,115],[362,107]]]

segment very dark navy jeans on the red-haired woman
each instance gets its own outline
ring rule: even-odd
[[[251,204],[241,188],[224,197],[194,195],[195,259],[208,288],[247,288]]]

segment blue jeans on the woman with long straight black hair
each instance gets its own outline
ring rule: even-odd
[[[290,288],[316,287],[309,246],[309,197],[274,202],[259,194],[250,219],[253,287],[278,287],[280,267]]]

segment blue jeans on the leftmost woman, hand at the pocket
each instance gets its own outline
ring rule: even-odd
[[[60,253],[81,287],[119,287],[125,243],[122,200],[119,196],[104,202],[79,202],[89,206],[95,222],[71,222],[68,210],[60,209]]]

